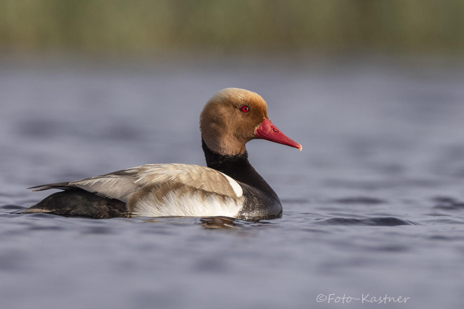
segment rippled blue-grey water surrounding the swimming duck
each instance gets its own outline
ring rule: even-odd
[[[188,63],[2,62],[2,308],[462,308],[464,70]],[[247,145],[282,219],[10,214],[50,193],[33,185],[204,164],[198,116],[226,87],[261,94],[303,145]]]

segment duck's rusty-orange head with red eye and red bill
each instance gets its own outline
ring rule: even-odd
[[[223,155],[244,153],[251,139],[267,139],[302,150],[269,120],[266,101],[245,89],[225,88],[213,95],[201,112],[200,131],[208,148]]]

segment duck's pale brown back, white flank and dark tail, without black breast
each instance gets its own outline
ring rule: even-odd
[[[64,191],[50,195],[23,213],[52,212],[94,218],[234,217],[245,201],[237,181],[217,170],[190,164],[146,164],[71,183],[33,188]]]

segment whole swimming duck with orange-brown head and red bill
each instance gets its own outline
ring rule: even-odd
[[[90,218],[230,217],[259,221],[282,217],[279,197],[248,161],[245,144],[265,139],[302,150],[269,119],[255,92],[219,90],[200,114],[206,166],[145,164],[109,174],[28,189],[60,189],[18,211]]]

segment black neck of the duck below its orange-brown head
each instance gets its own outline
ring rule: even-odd
[[[266,183],[266,181],[258,174],[248,161],[248,152],[238,155],[222,155],[211,151],[206,146],[205,141],[201,139],[201,147],[205,153],[206,166],[214,170],[219,170],[233,179],[250,185],[263,193],[271,196],[276,196],[274,190]]]

